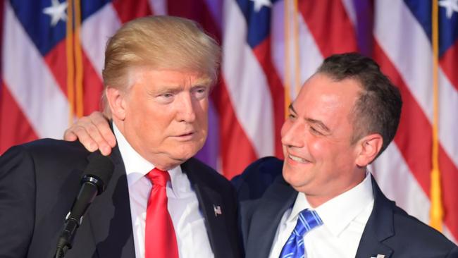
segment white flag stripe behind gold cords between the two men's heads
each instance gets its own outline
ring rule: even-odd
[[[272,59],[276,67],[278,75],[280,76],[283,84],[285,84],[285,6],[284,1],[278,1],[273,5],[272,9]],[[299,40],[299,80],[301,85],[316,71],[316,68],[323,62],[323,55],[321,54],[315,39],[309,28],[307,27],[302,15],[298,17],[298,40]],[[291,40],[290,45],[290,69],[291,78],[290,82],[294,82],[294,59],[295,53],[294,45]],[[294,99],[297,95],[294,86],[291,89],[291,97]]]

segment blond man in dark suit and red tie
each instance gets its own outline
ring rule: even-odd
[[[197,23],[132,20],[106,47],[114,173],[66,257],[240,257],[235,190],[193,159],[221,49]],[[0,257],[51,257],[89,152],[38,140],[0,158]]]

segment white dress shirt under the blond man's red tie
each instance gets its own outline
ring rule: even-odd
[[[145,219],[152,188],[151,181],[145,175],[154,165],[135,152],[114,123],[113,131],[128,179],[135,257],[144,258]],[[190,180],[182,173],[181,166],[169,170],[168,173],[171,182],[167,183],[167,207],[175,228],[180,258],[213,257],[204,216],[199,210],[199,200]]]

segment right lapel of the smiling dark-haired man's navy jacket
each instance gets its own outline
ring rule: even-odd
[[[372,177],[371,177],[372,178]],[[364,228],[356,257],[369,258],[377,257],[377,254],[385,255],[388,258],[392,249],[383,244],[383,241],[395,235],[393,225],[392,202],[383,195],[376,180],[372,178],[373,188],[373,209],[369,220]]]

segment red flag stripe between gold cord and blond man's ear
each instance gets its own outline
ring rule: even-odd
[[[84,115],[87,116],[93,111],[101,110],[100,98],[104,84],[96,70],[94,70],[91,61],[87,58],[85,51],[82,51],[82,67],[84,69],[82,79],[82,85],[84,87]]]

